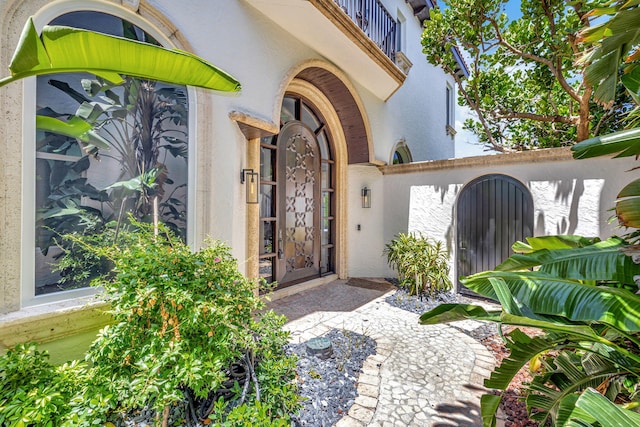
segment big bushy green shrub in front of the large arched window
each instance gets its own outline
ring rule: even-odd
[[[114,264],[113,279],[96,283],[109,295],[114,324],[100,333],[88,360],[98,377],[109,379],[120,409],[151,405],[160,414],[186,394],[206,400],[240,363],[251,375],[239,404],[260,401],[274,418],[288,417],[297,402],[295,363],[276,363],[287,360],[284,319],[256,315],[264,308],[257,284],[241,275],[219,242],[192,252],[162,225],[158,235],[150,225],[136,225],[125,244],[96,248]],[[257,373],[271,367],[280,386],[263,388]]]

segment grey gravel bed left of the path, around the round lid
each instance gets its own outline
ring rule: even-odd
[[[298,356],[297,374],[303,407],[293,415],[294,426],[329,427],[353,405],[356,381],[364,360],[376,352],[371,338],[351,331],[333,329],[333,355],[328,359],[307,354],[306,343],[291,344],[288,350]]]

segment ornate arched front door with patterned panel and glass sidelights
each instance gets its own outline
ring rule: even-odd
[[[333,136],[319,109],[295,93],[278,135],[260,144],[260,276],[280,288],[335,272]]]

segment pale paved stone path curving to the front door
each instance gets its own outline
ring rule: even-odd
[[[355,404],[336,427],[481,426],[482,383],[493,356],[455,328],[420,325],[418,315],[386,303],[387,292],[336,281],[270,303],[293,319],[285,325],[292,342],[334,328],[376,341]]]

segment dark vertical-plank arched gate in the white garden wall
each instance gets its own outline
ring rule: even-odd
[[[456,212],[458,277],[492,270],[511,255],[514,242],[533,235],[531,194],[506,175],[485,175],[468,183]],[[458,285],[461,292],[467,290]]]

